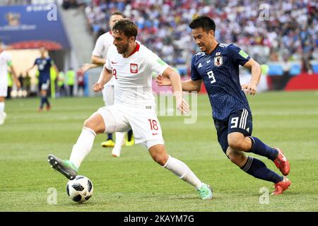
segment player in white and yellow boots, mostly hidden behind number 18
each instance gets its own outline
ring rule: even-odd
[[[103,35],[98,37],[98,40],[95,44],[95,48],[93,49],[91,56],[91,64],[84,64],[79,71],[81,73],[85,73],[88,69],[92,69],[98,66],[103,66],[106,62],[107,51],[114,41],[114,37],[112,37],[112,26],[118,20],[125,18],[124,14],[119,11],[114,11],[110,16],[110,31],[106,32]],[[102,98],[105,102],[105,106],[114,105],[114,78],[111,79],[109,83],[107,83],[102,90]],[[101,143],[102,147],[114,147],[112,150],[112,155],[114,157],[119,157],[120,152],[122,150],[122,143],[124,141],[125,133],[117,132],[116,134],[116,142],[114,143],[112,139],[112,133],[107,134],[107,140]],[[127,140],[125,142],[126,146],[131,146],[134,144],[134,138],[132,136],[132,130],[127,132]]]

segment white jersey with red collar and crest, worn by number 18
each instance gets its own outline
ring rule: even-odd
[[[143,44],[127,58],[112,44],[108,49],[105,68],[114,76],[114,104],[130,107],[155,106],[152,73],[162,74],[169,66]]]

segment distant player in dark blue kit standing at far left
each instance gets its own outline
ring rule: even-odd
[[[51,109],[51,105],[49,104],[49,100],[47,99],[47,92],[49,90],[49,83],[51,81],[50,78],[50,69],[51,66],[54,67],[55,71],[57,72],[57,75],[59,74],[59,70],[57,69],[57,66],[55,66],[54,61],[52,61],[51,57],[46,56],[45,53],[47,50],[45,47],[40,48],[41,57],[35,59],[35,62],[33,66],[28,69],[30,71],[33,69],[33,67],[36,65],[37,69],[39,71],[39,91],[40,91],[40,97],[41,97],[41,103],[40,107],[38,109],[38,112],[42,112],[44,105],[46,104],[46,109]]]

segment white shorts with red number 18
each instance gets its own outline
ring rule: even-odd
[[[135,143],[143,143],[148,148],[149,143],[151,146],[165,143],[155,107],[142,109],[114,104],[101,107],[97,112],[104,119],[105,133],[126,132],[132,129]]]

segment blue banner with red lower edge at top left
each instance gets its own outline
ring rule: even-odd
[[[0,40],[13,49],[69,49],[55,4],[0,6]]]

